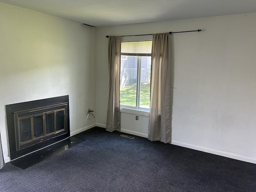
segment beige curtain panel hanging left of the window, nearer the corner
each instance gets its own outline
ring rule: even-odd
[[[108,37],[108,112],[106,130],[114,131],[121,129],[120,113],[120,54],[121,54],[121,37]]]

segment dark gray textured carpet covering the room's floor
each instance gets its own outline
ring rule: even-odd
[[[0,192],[255,192],[256,165],[92,128],[27,169],[7,163]]]

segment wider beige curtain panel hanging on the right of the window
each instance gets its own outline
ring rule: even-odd
[[[148,140],[172,141],[171,35],[153,34]]]

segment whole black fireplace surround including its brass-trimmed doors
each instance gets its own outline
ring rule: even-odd
[[[70,136],[68,95],[5,107],[11,160]]]

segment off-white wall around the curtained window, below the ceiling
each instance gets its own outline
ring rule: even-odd
[[[96,28],[97,125],[106,125],[106,35],[198,28],[172,34],[172,144],[256,163],[256,13]],[[145,135],[147,117],[121,117],[122,130]]]

